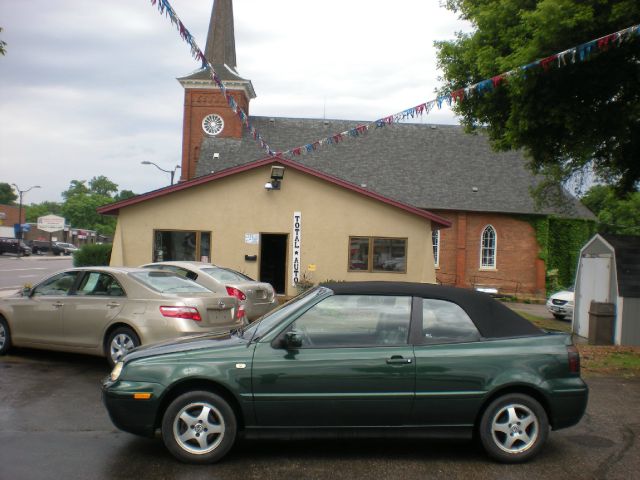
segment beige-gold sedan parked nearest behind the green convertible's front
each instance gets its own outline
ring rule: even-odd
[[[0,300],[0,354],[11,346],[107,357],[141,344],[229,332],[238,301],[166,271],[86,267],[58,272]]]

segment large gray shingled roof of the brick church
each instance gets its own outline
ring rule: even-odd
[[[367,122],[251,117],[273,151],[284,151]],[[220,157],[213,159],[213,154]],[[205,138],[197,175],[243,165],[266,156],[245,131],[242,140]],[[311,168],[386,197],[428,210],[559,214],[594,218],[567,192],[562,205],[536,209],[530,194],[536,178],[519,152],[494,152],[483,134],[459,126],[387,125],[366,136],[292,157]],[[286,181],[286,179],[285,179]],[[474,187],[477,191],[474,192]]]

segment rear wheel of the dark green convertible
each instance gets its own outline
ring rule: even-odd
[[[521,463],[536,456],[549,435],[544,408],[523,394],[497,398],[482,414],[479,425],[482,446],[502,463]]]

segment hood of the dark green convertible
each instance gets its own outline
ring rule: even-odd
[[[205,333],[202,335],[193,335],[170,340],[161,343],[152,343],[143,345],[132,350],[126,357],[124,362],[128,363],[132,360],[140,358],[155,357],[158,355],[167,355],[171,353],[188,352],[202,349],[224,349],[246,344],[247,341],[236,335],[229,333]]]

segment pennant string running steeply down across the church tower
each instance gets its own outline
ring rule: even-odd
[[[271,150],[271,147],[266,142],[264,137],[251,124],[249,115],[244,112],[244,110],[238,105],[231,94],[227,91],[227,87],[225,87],[222,80],[220,80],[220,77],[218,77],[218,74],[214,70],[213,65],[209,63],[204,53],[202,53],[202,50],[200,49],[200,47],[198,47],[198,44],[193,38],[193,35],[191,35],[187,27],[184,26],[175,10],[169,3],[169,0],[151,0],[151,5],[157,5],[160,14],[164,14],[169,17],[171,24],[176,26],[178,32],[180,33],[180,37],[189,45],[191,49],[191,56],[202,63],[202,69],[208,69],[211,80],[213,80],[213,82],[218,86],[218,88],[226,98],[229,107],[231,107],[231,110],[233,110],[233,112],[238,115],[238,117],[240,117],[240,121],[245,126],[245,128],[249,130],[253,139],[258,142],[260,148],[266,151],[270,156],[275,155],[275,152]]]

